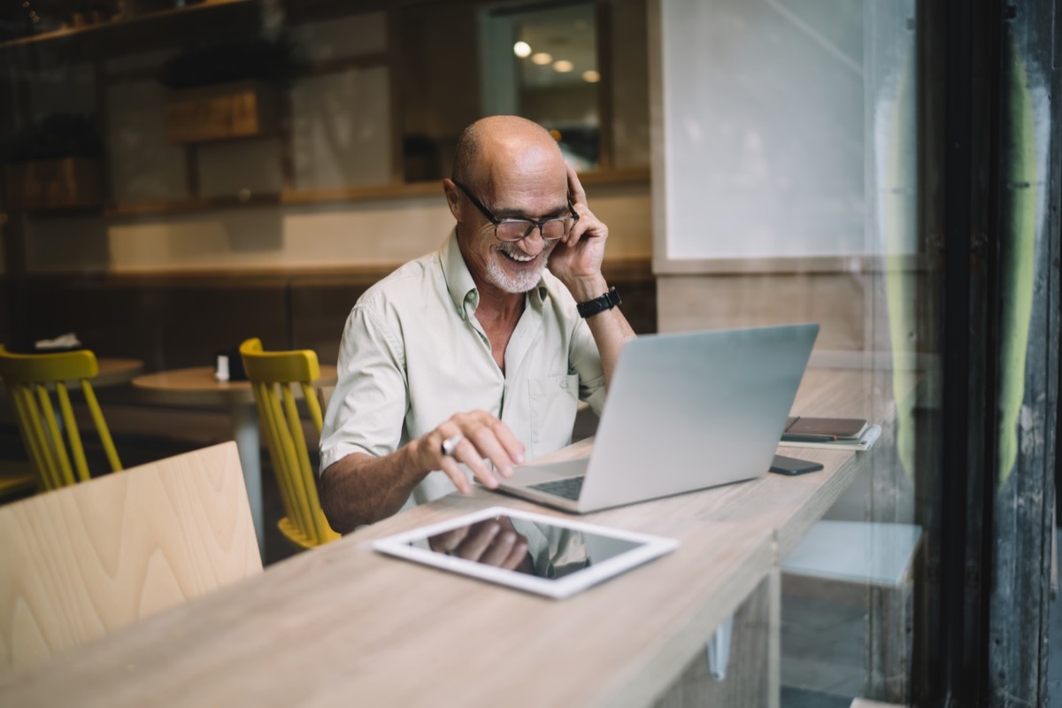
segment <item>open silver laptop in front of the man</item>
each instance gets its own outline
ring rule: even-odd
[[[802,324],[629,340],[590,456],[517,466],[498,488],[585,514],[759,477],[818,332]]]

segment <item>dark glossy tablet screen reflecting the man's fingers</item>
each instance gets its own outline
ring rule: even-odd
[[[509,516],[477,521],[428,538],[428,547],[436,553],[546,580],[559,580],[638,546],[636,541]]]

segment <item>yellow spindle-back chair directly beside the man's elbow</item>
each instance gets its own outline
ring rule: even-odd
[[[308,549],[339,538],[321,511],[318,478],[303,434],[294,392],[301,390],[310,419],[321,434],[321,405],[310,385],[321,377],[318,356],[309,349],[263,351],[257,338],[240,345],[243,369],[255,392],[258,415],[276,472],[287,516],[277,528],[298,548]]]

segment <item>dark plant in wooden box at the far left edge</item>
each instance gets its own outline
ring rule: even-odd
[[[89,116],[53,114],[25,125],[3,150],[8,207],[102,205],[103,153],[103,140]]]

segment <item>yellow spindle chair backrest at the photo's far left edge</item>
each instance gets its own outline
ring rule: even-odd
[[[0,346],[0,378],[7,388],[22,442],[44,489],[85,482],[90,477],[85,448],[70,404],[68,382],[76,382],[81,386],[112,471],[122,468],[89,382],[98,373],[96,355],[88,349],[21,355]],[[52,391],[58,411],[52,404]]]

